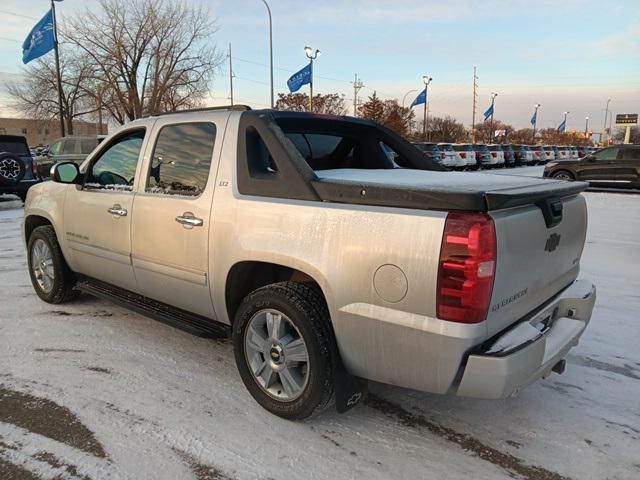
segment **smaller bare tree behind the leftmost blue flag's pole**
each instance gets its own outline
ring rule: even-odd
[[[73,134],[73,120],[96,110],[95,102],[87,91],[93,76],[86,57],[63,48],[60,57],[62,79],[62,114],[66,131]],[[51,56],[43,57],[25,68],[24,80],[7,84],[15,108],[24,114],[43,120],[59,115],[58,85],[55,63]]]

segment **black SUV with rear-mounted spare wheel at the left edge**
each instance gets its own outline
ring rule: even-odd
[[[13,193],[24,202],[27,190],[39,181],[27,140],[15,135],[0,135],[0,194]]]

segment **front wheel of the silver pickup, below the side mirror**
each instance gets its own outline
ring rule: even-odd
[[[27,261],[31,284],[40,299],[57,304],[79,295],[73,289],[75,276],[62,255],[51,225],[44,225],[33,231],[27,245]]]

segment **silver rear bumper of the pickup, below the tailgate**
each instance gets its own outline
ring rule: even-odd
[[[469,355],[457,395],[503,398],[549,375],[578,344],[596,300],[596,288],[578,280],[529,320]]]

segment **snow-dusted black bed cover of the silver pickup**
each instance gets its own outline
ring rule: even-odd
[[[334,173],[330,176],[317,173],[319,178],[312,181],[312,186],[322,201],[420,210],[487,212],[558,200],[577,195],[588,187],[584,182],[482,173],[429,172],[433,177],[431,182],[419,179],[419,184],[403,184],[394,182],[392,172],[387,170],[386,185],[378,179],[356,180],[336,178],[339,174]],[[472,177],[447,182],[442,175]]]

